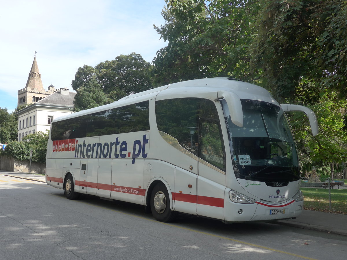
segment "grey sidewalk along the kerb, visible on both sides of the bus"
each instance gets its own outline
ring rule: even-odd
[[[0,175],[45,182],[45,176],[39,174],[0,170]],[[302,214],[296,219],[278,220],[272,223],[347,236],[347,215],[344,214],[303,210]]]

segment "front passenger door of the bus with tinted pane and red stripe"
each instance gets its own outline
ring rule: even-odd
[[[218,120],[200,119],[197,215],[224,218],[226,160]]]

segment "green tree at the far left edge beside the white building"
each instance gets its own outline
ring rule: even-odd
[[[9,113],[7,108],[0,108],[0,142],[5,144],[17,140],[18,119],[14,113]]]

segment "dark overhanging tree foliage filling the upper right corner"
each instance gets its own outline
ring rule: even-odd
[[[347,2],[260,0],[252,66],[263,71],[277,99],[294,97],[302,81],[311,91],[346,97]]]

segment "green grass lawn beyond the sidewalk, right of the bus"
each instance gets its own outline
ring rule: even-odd
[[[301,188],[304,209],[329,212],[329,189]],[[331,212],[347,214],[347,189],[331,189]]]

